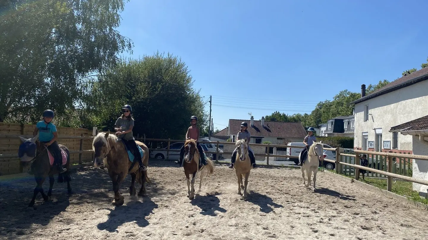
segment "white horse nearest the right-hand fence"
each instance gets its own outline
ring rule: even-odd
[[[299,154],[299,158],[300,158],[300,154]],[[317,172],[318,172],[318,166],[319,166],[318,158],[321,161],[324,160],[323,145],[321,141],[319,143],[313,141],[313,144],[309,147],[308,154],[306,155],[305,159],[303,159],[303,164],[300,167],[300,170],[302,170],[303,185],[305,185],[306,187],[309,187],[309,185],[311,184],[311,175],[312,175],[312,172],[314,173],[314,185],[312,187],[313,191],[315,191],[315,182],[317,181]],[[304,170],[306,170],[308,183],[305,182]]]

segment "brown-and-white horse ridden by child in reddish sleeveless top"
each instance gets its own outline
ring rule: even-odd
[[[184,143],[184,161],[183,168],[184,174],[187,178],[187,194],[189,194],[189,199],[192,200],[195,198],[195,180],[198,172],[201,172],[200,181],[199,181],[199,189],[201,190],[202,179],[204,177],[203,168],[206,168],[207,175],[214,173],[214,163],[208,157],[205,157],[208,164],[199,169],[199,151],[196,148],[196,141],[193,139],[186,140]],[[189,175],[192,175],[192,181],[190,182]],[[190,183],[192,184],[192,189],[190,189]]]

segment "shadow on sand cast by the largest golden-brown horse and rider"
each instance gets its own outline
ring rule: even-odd
[[[153,210],[158,208],[158,205],[149,198],[144,198],[143,202],[132,201],[126,205],[116,206],[110,210],[108,220],[97,225],[99,230],[107,230],[109,232],[117,231],[116,229],[126,222],[136,222],[139,227],[146,227],[149,221],[146,216],[153,213]]]

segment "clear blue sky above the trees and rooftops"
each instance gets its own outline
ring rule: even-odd
[[[223,129],[248,112],[310,113],[341,90],[419,69],[426,9],[425,0],[131,0],[118,30],[135,58],[181,57]]]

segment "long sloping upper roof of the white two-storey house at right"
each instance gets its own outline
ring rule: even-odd
[[[351,102],[351,104],[355,104],[358,102],[364,102],[366,100],[369,100],[371,98],[380,96],[382,94],[386,94],[392,91],[395,91],[400,88],[407,87],[408,85],[412,85],[416,82],[424,81],[428,79],[428,76],[425,76],[428,74],[428,67],[424,67],[419,71],[416,71],[414,73],[410,73],[409,75],[403,76],[393,82],[388,83],[387,85],[383,86],[383,88],[379,88],[376,91],[367,94],[366,96],[355,100],[354,102]]]

